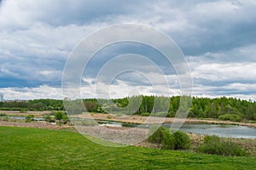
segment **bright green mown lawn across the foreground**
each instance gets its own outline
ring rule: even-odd
[[[0,127],[0,169],[256,169],[256,157],[105,147],[79,133]]]

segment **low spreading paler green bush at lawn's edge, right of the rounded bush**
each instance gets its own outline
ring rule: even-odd
[[[198,152],[206,154],[216,154],[219,156],[245,156],[245,150],[230,140],[225,141],[216,135],[206,136],[204,144],[197,148]]]

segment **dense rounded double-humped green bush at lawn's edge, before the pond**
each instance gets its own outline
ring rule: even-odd
[[[155,130],[155,127],[151,127]],[[167,150],[188,150],[190,147],[190,139],[186,133],[177,131],[170,133],[170,130],[166,127],[159,127],[151,136],[148,138],[149,142],[160,144],[161,149]]]

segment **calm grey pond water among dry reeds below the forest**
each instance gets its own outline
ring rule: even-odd
[[[132,123],[110,121],[99,121],[98,123],[101,126],[110,127],[137,127],[137,124]],[[172,123],[165,123],[162,126],[172,127]],[[140,127],[148,128],[150,126],[143,124]],[[220,137],[256,139],[256,128],[238,125],[184,123],[180,130],[195,134],[218,135]]]

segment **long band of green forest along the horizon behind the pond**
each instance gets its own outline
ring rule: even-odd
[[[123,99],[32,99],[27,101],[0,102],[2,111],[65,111],[73,114],[83,111],[95,113],[136,114],[141,116],[176,115],[180,96],[133,96]],[[66,107],[64,107],[64,104]],[[84,107],[85,106],[85,107]],[[193,97],[188,105],[189,117],[218,118],[235,122],[256,121],[256,102],[236,98]],[[182,108],[179,108],[182,109]]]

